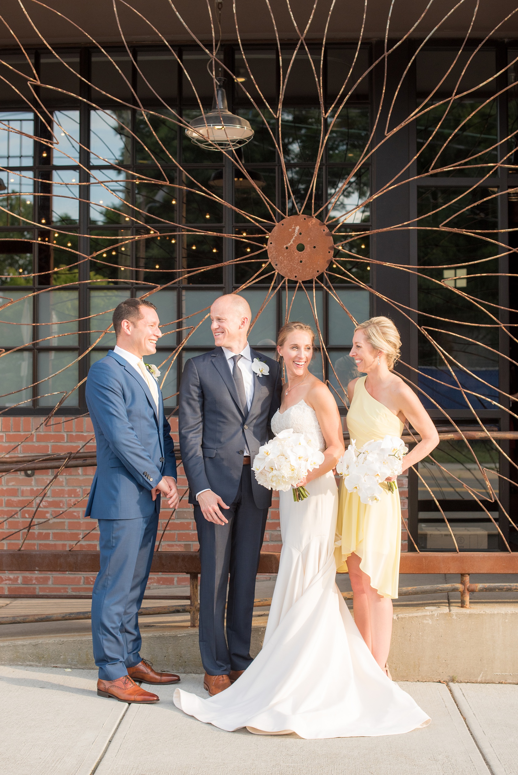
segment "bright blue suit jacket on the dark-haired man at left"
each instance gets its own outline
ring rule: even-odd
[[[114,353],[92,364],[86,403],[97,443],[97,471],[85,517],[136,519],[160,512],[151,490],[176,477],[171,427],[158,390],[158,412],[147,382]]]

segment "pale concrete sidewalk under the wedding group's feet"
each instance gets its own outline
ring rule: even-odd
[[[221,732],[174,708],[98,698],[96,673],[0,667],[5,775],[516,775],[518,686],[400,684],[432,718],[378,738]],[[202,676],[182,686],[206,696]],[[464,718],[463,718],[464,717]]]

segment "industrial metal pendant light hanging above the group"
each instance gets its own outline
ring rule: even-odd
[[[189,122],[185,134],[196,145],[207,150],[231,150],[248,143],[254,136],[254,129],[247,119],[234,115],[228,109],[223,88],[225,78],[216,78],[216,96],[212,110]]]

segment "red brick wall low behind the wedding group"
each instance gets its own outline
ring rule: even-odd
[[[63,453],[71,449],[95,449],[92,423],[88,417],[77,419],[52,418],[45,424],[40,417],[3,417],[0,418],[0,455],[31,453]],[[178,420],[171,419],[173,437],[178,444]],[[17,446],[19,445],[19,446]],[[33,518],[36,505],[55,470],[36,471],[34,477],[26,477],[24,472],[6,474],[0,485],[0,550],[19,549],[60,549],[78,552],[86,549],[98,549],[97,522],[85,519],[86,501],[92,484],[95,469],[68,468],[54,481],[44,494],[40,508],[33,519],[33,525],[27,535],[27,526]],[[399,491],[403,518],[406,520],[407,479],[399,480]],[[180,467],[178,471],[178,489],[184,494],[180,508],[171,518],[171,512],[162,510],[158,526],[157,543],[161,539],[160,549],[167,551],[198,549],[195,522],[192,518],[192,506],[187,502],[187,480]],[[274,498],[268,515],[264,549],[278,552],[281,549],[281,532],[278,521],[278,498]],[[92,532],[91,532],[92,531]],[[89,533],[89,535],[88,535]],[[407,550],[407,536],[403,530],[402,551]],[[74,576],[67,574],[0,574],[0,592],[2,594],[43,593],[83,593],[88,594],[94,582],[93,576]],[[154,585],[188,584],[188,577],[154,574],[150,577]]]

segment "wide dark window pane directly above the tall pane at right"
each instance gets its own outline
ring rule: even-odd
[[[444,177],[489,174],[491,165],[498,161],[497,125],[496,102],[484,105],[482,101],[463,100],[431,108],[416,121],[418,172],[423,174],[458,164],[440,174]],[[481,164],[485,167],[480,167]]]

